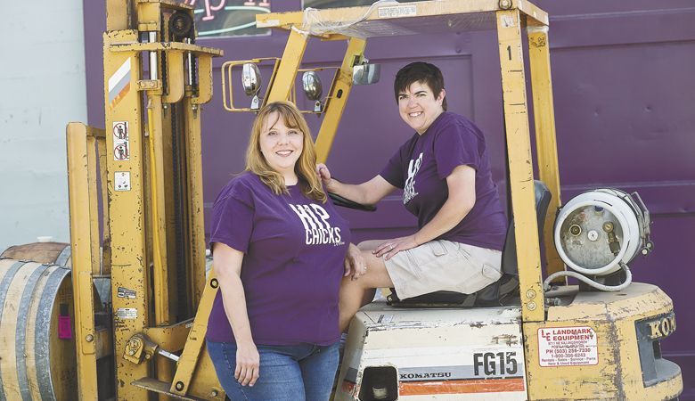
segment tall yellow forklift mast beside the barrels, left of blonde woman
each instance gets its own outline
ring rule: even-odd
[[[212,97],[212,57],[222,55],[195,37],[192,6],[107,1],[106,128],[68,128],[80,399],[108,397],[98,394],[108,383],[98,376],[110,374],[97,369],[97,356],[110,354],[111,340],[119,399],[147,399],[148,386],[224,399],[214,374],[191,384],[192,371],[205,367],[195,363],[204,338],[196,329],[207,324],[192,319],[206,287],[200,111]],[[110,277],[112,337],[94,327],[96,276]],[[185,364],[191,356],[175,352],[189,335],[195,355]],[[178,361],[186,367],[176,370]]]

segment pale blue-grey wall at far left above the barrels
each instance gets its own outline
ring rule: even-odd
[[[70,241],[65,125],[86,121],[82,0],[4,2],[0,251]]]

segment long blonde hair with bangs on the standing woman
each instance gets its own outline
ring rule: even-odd
[[[294,172],[297,174],[301,191],[307,198],[325,203],[326,193],[323,192],[321,181],[316,176],[316,151],[307,121],[302,117],[297,107],[290,102],[268,103],[258,111],[258,115],[253,121],[253,127],[251,127],[249,147],[246,150],[246,170],[257,175],[276,195],[288,192],[282,174],[268,165],[266,157],[260,151],[260,135],[263,134],[263,124],[274,112],[278,113],[279,119],[282,119],[285,126],[298,129],[302,133],[304,145],[299,159],[294,165]]]

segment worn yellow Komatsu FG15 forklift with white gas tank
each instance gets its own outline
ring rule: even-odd
[[[204,344],[217,280],[214,271],[206,276],[200,156],[201,108],[211,99],[212,58],[222,52],[195,44],[192,15],[173,0],[107,0],[106,127],[70,123],[67,133],[72,279],[63,285],[74,313],[71,335],[61,339],[74,347],[77,370],[44,372],[37,364],[11,383],[3,357],[7,399],[225,399]],[[336,400],[668,400],[682,392],[679,367],[659,348],[675,330],[672,301],[656,286],[630,283],[626,266],[650,250],[647,209],[638,196],[608,189],[560,209],[548,24],[547,13],[526,0],[268,13],[257,26],[289,31],[282,56],[223,65],[226,110],[296,100],[301,85],[315,102],[307,112],[323,117],[316,139],[323,162],[352,86],[378,78],[364,58],[369,37],[496,30],[491,51],[500,59],[516,266],[506,283],[518,292],[486,307],[475,299],[403,307],[407,300],[393,297],[364,307],[350,326]],[[300,69],[310,37],[347,44],[325,96],[321,69]],[[263,93],[259,64],[272,68]],[[234,106],[233,70],[253,96],[249,107]],[[527,77],[544,184],[534,181]],[[10,260],[0,260],[0,279],[19,266]],[[567,275],[602,291],[568,285]],[[100,279],[110,282],[105,311],[94,290]],[[61,317],[72,311],[58,304],[45,314],[65,331]]]

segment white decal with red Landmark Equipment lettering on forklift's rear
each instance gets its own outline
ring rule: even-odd
[[[549,366],[599,364],[596,331],[588,326],[538,329],[538,363]]]

